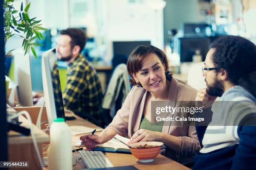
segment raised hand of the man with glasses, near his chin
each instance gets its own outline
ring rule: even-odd
[[[200,89],[198,90],[197,96],[195,97],[195,106],[202,107],[203,105],[206,105],[206,107],[209,107],[212,105],[213,101],[216,98],[217,97],[215,96],[208,95],[206,92],[206,88]]]

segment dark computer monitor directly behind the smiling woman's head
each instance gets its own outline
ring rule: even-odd
[[[150,41],[114,41],[113,42],[113,53],[130,55],[134,48],[139,45],[150,45]]]

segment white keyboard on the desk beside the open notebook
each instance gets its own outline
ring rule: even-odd
[[[87,168],[113,167],[108,158],[101,151],[79,150],[78,153]]]

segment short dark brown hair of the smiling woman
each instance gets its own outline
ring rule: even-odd
[[[154,47],[153,45],[148,45],[148,46],[140,45],[131,52],[131,55],[129,56],[127,61],[127,69],[129,74],[131,75],[130,82],[132,85],[141,86],[140,83],[139,85],[136,84],[136,81],[134,80],[132,74],[135,74],[136,72],[141,70],[143,60],[152,53],[156,54],[159,60],[161,61],[161,63],[164,65],[165,74],[169,73],[168,61],[163,51],[161,51],[157,47]]]

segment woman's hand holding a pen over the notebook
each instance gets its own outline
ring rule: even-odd
[[[103,138],[99,135],[84,135],[80,137],[84,143],[83,145],[86,147],[86,150],[93,150],[96,148],[96,145],[103,143]]]

